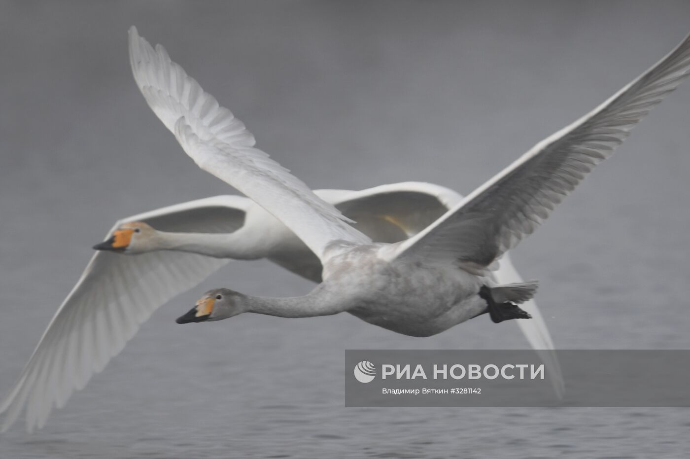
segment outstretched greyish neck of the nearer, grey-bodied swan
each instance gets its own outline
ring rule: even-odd
[[[333,293],[324,284],[310,293],[289,298],[254,297],[243,295],[246,312],[275,315],[283,318],[307,318],[319,315],[333,315],[347,309],[341,295]]]

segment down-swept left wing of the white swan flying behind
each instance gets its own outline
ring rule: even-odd
[[[249,199],[217,196],[176,204],[120,220],[144,221],[161,231],[231,233],[244,223]],[[161,304],[228,263],[193,253],[93,255],[79,282],[48,324],[12,391],[0,404],[5,431],[26,409],[26,428],[42,427],[52,407],[117,355]]]

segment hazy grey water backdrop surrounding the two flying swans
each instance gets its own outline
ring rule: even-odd
[[[0,2],[0,392],[118,217],[228,193],[128,67],[132,24],[313,188],[468,193],[660,59],[690,3]],[[690,84],[513,261],[562,349],[687,349]],[[179,326],[199,293],[297,295],[230,264],[0,458],[681,458],[687,409],[346,409],[344,349],[517,349],[515,324],[408,338],[349,315]]]

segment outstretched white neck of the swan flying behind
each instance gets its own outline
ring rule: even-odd
[[[157,231],[159,250],[199,253],[216,258],[257,260],[266,256],[266,247],[243,228],[234,233],[166,233]]]

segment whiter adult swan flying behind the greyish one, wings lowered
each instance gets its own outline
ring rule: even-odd
[[[316,190],[356,228],[377,242],[399,242],[422,231],[462,196],[422,182],[375,186],[362,191]],[[230,260],[267,258],[321,282],[322,266],[284,224],[244,196],[215,196],[121,219],[94,248],[79,282],[55,313],[10,395],[0,404],[5,430],[26,407],[27,429],[42,427],[53,405],[63,406],[101,371],[159,306],[199,284]],[[126,256],[135,255],[135,256]],[[521,282],[509,258],[495,272],[501,282]],[[525,338],[555,369],[553,342],[536,304],[524,308]]]

